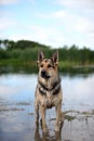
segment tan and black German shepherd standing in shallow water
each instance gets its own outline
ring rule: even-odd
[[[41,115],[41,125],[43,131],[46,131],[45,110],[55,106],[56,123],[55,131],[59,131],[62,117],[62,87],[58,75],[58,52],[55,52],[51,59],[45,59],[44,53],[38,53],[38,85],[35,93],[36,123]]]

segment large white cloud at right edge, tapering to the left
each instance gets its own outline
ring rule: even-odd
[[[48,14],[38,13],[36,16],[44,20],[56,20],[56,28],[64,26],[66,30],[76,30],[81,34],[91,34],[94,30],[94,20],[86,14],[81,15],[75,11],[59,10]]]

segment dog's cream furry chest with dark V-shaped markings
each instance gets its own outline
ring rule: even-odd
[[[45,87],[45,85],[39,81],[37,90],[40,104],[44,105],[46,108],[55,106],[58,103],[61,93],[61,80],[55,81],[50,87]]]

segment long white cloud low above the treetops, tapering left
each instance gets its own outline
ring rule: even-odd
[[[29,26],[26,27],[27,33],[19,33],[17,35],[10,36],[10,39],[19,40],[19,39],[28,39],[39,41],[40,43],[44,43],[48,46],[58,47],[63,44],[65,38],[61,30],[55,27],[43,27],[43,26]]]

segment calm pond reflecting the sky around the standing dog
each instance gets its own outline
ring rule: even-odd
[[[48,110],[44,133],[35,125],[37,75],[0,75],[0,141],[94,141],[94,74],[61,76],[64,125],[55,132],[55,111]]]

